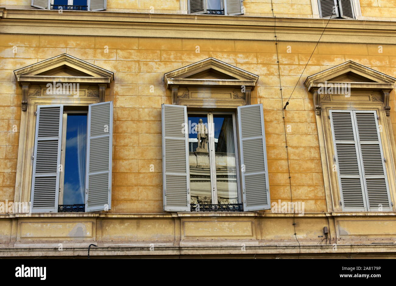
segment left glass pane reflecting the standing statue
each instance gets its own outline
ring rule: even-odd
[[[200,122],[202,120],[202,122]],[[190,151],[190,197],[193,204],[211,204],[210,161],[208,152],[208,116],[188,114]]]

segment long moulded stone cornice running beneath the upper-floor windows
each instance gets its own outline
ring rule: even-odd
[[[1,8],[0,33],[270,40],[273,17]],[[276,18],[278,41],[316,42],[327,19]],[[56,25],[54,25],[56,23]],[[59,25],[61,24],[61,25]],[[29,28],[34,27],[34,28]],[[165,33],[164,30],[167,30]],[[396,44],[396,22],[334,19],[321,42]]]

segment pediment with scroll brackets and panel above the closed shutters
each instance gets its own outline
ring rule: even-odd
[[[362,64],[347,61],[305,80],[312,93],[316,115],[321,114],[322,101],[345,103],[381,101],[386,116],[390,115],[389,93],[394,89],[395,78]]]

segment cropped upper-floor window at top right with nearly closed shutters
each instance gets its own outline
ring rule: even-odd
[[[354,0],[318,0],[321,18],[355,19]]]

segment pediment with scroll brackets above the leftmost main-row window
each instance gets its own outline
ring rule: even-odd
[[[67,54],[62,54],[39,63],[14,70],[15,78],[22,86],[22,110],[27,110],[29,96],[40,96],[41,90],[31,90],[30,85],[40,86],[48,83],[56,85],[78,84],[97,86],[100,101],[104,100],[105,89],[114,80],[114,74],[108,70],[87,63]],[[54,87],[55,88],[55,87]],[[96,92],[96,91],[95,91]],[[92,93],[91,96],[95,96]]]

